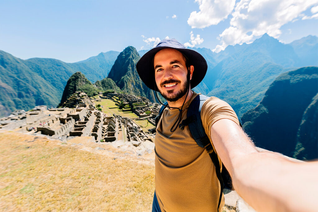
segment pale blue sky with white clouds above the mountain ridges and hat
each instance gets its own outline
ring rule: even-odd
[[[73,63],[164,38],[219,52],[267,33],[318,36],[318,0],[0,0],[0,50]]]

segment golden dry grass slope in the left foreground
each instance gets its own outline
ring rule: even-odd
[[[151,210],[153,161],[76,143],[0,131],[0,211]]]

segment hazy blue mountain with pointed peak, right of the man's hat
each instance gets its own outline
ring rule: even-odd
[[[221,54],[226,58],[208,71],[204,83],[208,96],[225,100],[239,116],[254,108],[274,79],[299,61],[290,45],[267,34],[252,44],[228,46]]]

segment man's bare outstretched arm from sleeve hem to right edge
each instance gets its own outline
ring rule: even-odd
[[[229,119],[220,119],[211,126],[211,140],[232,176],[235,190],[254,209],[316,209],[318,162],[293,162],[278,153],[259,152]]]

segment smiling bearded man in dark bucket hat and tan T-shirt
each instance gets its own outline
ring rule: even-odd
[[[198,95],[191,88],[204,78],[205,59],[175,39],[164,39],[142,56],[136,68],[142,81],[168,101],[156,127],[153,210],[222,211],[224,197],[219,205],[219,195],[223,194],[209,154],[197,145],[188,126],[179,127],[187,118],[190,102]],[[294,195],[298,201],[308,203],[308,198],[304,200],[299,190],[291,186],[278,188],[286,181],[294,182],[294,178],[285,176],[297,175],[295,170],[306,170],[304,165],[295,165],[279,154],[259,153],[239,127],[231,106],[216,97],[204,102],[201,120],[218,154],[220,167],[223,162],[232,176],[234,188],[253,208],[304,209],[296,201],[286,201],[286,195]],[[304,179],[304,175],[299,177]],[[299,178],[296,176],[296,179]]]

